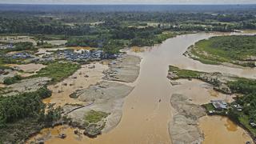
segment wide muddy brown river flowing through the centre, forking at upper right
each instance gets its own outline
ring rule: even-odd
[[[65,133],[69,138],[62,140],[53,137],[46,143],[170,143],[168,123],[173,114],[170,106],[171,94],[183,93],[182,91],[185,94],[193,94],[194,102],[200,104],[209,102],[208,100],[211,98],[218,98],[219,95],[225,98],[225,95],[206,90],[204,87],[201,89],[193,88],[193,86],[202,86],[203,84],[200,82],[193,83],[194,81],[176,88],[170,86],[170,82],[166,78],[169,65],[183,69],[222,72],[246,78],[256,78],[255,69],[205,65],[182,55],[186,48],[194,42],[216,35],[222,35],[222,33],[186,34],[170,38],[161,45],[146,48],[142,50],[142,53],[130,51],[130,54],[142,57],[141,70],[138,79],[134,82],[134,90],[126,97],[122,110],[122,120],[118,126],[97,138],[86,138],[85,136],[76,138],[77,136],[73,134],[74,131],[68,128]],[[205,91],[202,92],[202,90]],[[204,99],[204,96],[207,98]],[[218,122],[218,124],[222,125],[223,122]],[[237,130],[232,131],[232,133],[236,132]],[[241,135],[241,131],[238,133],[231,137],[242,139],[242,142],[248,139],[248,137]],[[230,131],[226,130],[223,134],[229,135]],[[223,139],[222,142],[230,143],[231,141]]]

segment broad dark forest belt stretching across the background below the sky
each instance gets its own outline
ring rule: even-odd
[[[0,34],[29,34],[36,40],[67,39],[66,46],[118,52],[125,46],[153,46],[186,31],[255,29],[254,11],[239,13],[171,12],[0,12]],[[166,34],[168,32],[169,34]],[[40,44],[40,43],[39,43]],[[114,50],[106,48],[110,46]],[[39,46],[39,45],[38,45]],[[27,46],[23,46],[27,47]],[[50,45],[42,47],[52,47]],[[34,46],[30,46],[33,49]],[[18,50],[22,50],[18,48]],[[25,48],[23,48],[25,49]],[[108,51],[109,50],[109,51]]]

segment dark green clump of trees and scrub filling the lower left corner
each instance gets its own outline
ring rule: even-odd
[[[30,134],[58,121],[61,118],[60,109],[42,102],[42,98],[50,95],[51,91],[43,86],[35,92],[0,96],[0,143],[22,142]]]

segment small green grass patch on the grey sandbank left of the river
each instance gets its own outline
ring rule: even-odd
[[[85,121],[89,123],[97,123],[102,120],[102,118],[106,118],[109,115],[109,113],[105,113],[102,111],[95,111],[90,110],[88,113],[85,114]]]

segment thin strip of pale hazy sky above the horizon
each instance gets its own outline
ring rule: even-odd
[[[256,0],[0,0],[18,4],[256,4]]]

